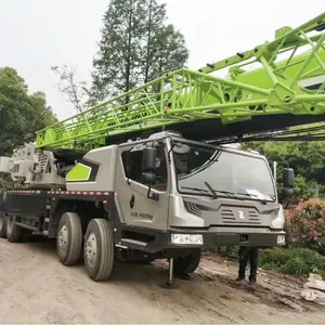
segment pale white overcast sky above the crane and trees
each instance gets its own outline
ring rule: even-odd
[[[185,36],[187,66],[197,69],[273,40],[325,11],[324,0],[166,0],[168,22]],[[51,66],[75,66],[90,81],[109,0],[0,0],[0,66],[12,66],[29,91],[43,91],[60,119],[75,110],[55,88]]]

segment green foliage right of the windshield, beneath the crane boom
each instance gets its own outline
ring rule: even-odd
[[[325,198],[325,142],[259,142],[242,145],[264,155],[270,164],[277,161],[277,190],[281,196],[283,168],[289,166],[297,176],[295,196],[314,197],[318,184],[320,197]]]

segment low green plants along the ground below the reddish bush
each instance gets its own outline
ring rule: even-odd
[[[260,268],[286,274],[325,276],[325,257],[308,248],[270,248],[260,251]]]

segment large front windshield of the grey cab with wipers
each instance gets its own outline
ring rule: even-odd
[[[263,202],[276,198],[272,174],[260,157],[187,143],[174,146],[173,156],[180,193]]]

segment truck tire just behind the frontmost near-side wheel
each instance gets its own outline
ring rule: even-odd
[[[78,262],[82,248],[82,227],[77,213],[65,212],[61,217],[57,236],[56,251],[64,265],[74,265]]]

